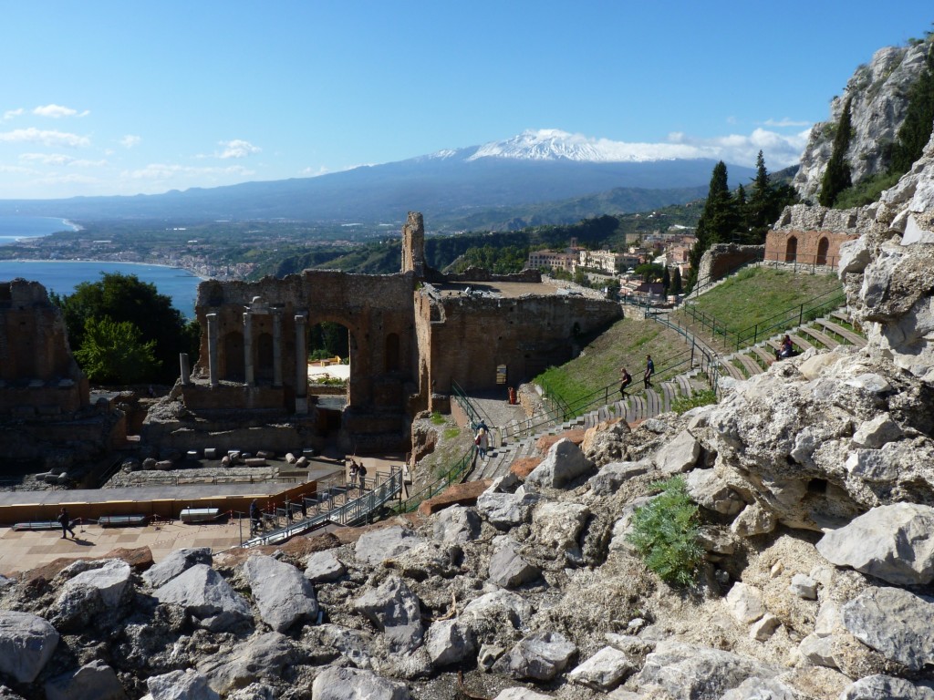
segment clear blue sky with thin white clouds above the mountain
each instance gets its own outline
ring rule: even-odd
[[[797,161],[929,0],[7,0],[0,199],[321,175],[526,130]]]

